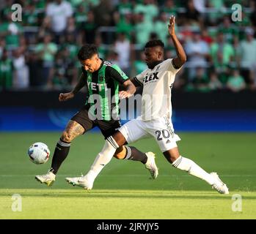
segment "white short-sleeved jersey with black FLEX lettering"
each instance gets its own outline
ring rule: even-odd
[[[175,75],[172,59],[167,59],[153,69],[145,69],[135,80],[142,84],[142,120],[150,121],[163,116],[172,116],[171,89]]]

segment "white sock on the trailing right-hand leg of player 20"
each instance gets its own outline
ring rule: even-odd
[[[214,178],[209,173],[203,170],[191,159],[187,159],[183,156],[179,156],[178,159],[175,160],[175,162],[172,162],[172,166],[180,170],[185,170],[190,175],[197,176],[198,178],[201,178],[210,185],[214,184],[215,182]]]

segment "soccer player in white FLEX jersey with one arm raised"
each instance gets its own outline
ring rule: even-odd
[[[176,48],[175,59],[164,60],[164,43],[160,40],[147,42],[145,45],[145,61],[148,69],[137,75],[136,86],[142,85],[142,116],[128,121],[119,131],[107,138],[102,151],[93,162],[86,176],[66,178],[66,180],[84,189],[92,189],[95,178],[107,165],[116,149],[125,143],[133,143],[142,137],[152,136],[159,148],[173,167],[184,170],[192,176],[206,181],[221,194],[228,194],[224,184],[216,173],[207,173],[191,159],[181,156],[172,127],[171,88],[176,73],[186,62],[186,53],[175,35],[175,17],[169,19],[168,31]]]

